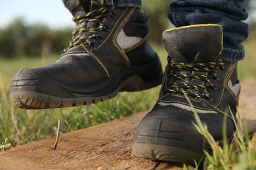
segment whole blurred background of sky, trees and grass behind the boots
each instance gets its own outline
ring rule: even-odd
[[[256,1],[246,0],[250,25],[244,42],[245,59],[238,64],[240,80],[256,77]],[[169,0],[142,0],[148,12],[150,39],[163,69],[167,52],[161,42]],[[161,9],[161,10],[160,10]],[[160,19],[161,18],[161,19]],[[112,100],[81,107],[26,110],[15,108],[10,99],[12,77],[20,69],[54,63],[68,46],[74,30],[72,15],[61,0],[0,0],[0,152],[55,134],[62,118],[61,133],[149,110],[158,99],[160,86],[137,93],[119,93]]]

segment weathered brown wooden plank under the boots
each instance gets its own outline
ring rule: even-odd
[[[256,129],[254,80],[242,83],[240,112]],[[136,158],[131,153],[133,134],[146,112],[98,126],[43,139],[0,152],[0,169],[182,169],[182,164]]]

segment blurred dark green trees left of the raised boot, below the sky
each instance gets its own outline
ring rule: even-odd
[[[61,54],[72,37],[72,29],[50,29],[43,24],[27,25],[16,18],[0,29],[0,57],[41,57],[45,54]]]

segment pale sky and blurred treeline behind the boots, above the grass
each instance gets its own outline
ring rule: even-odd
[[[144,0],[142,3],[149,16],[150,41],[161,44],[162,31],[171,27],[167,20],[170,1]],[[256,1],[245,1],[245,8],[249,13],[245,22],[255,30]],[[60,55],[68,46],[75,25],[61,0],[1,0],[0,16],[0,58]]]

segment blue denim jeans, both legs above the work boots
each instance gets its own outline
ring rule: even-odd
[[[161,0],[160,0],[161,1]],[[140,0],[105,0],[106,5],[140,7]],[[223,27],[223,52],[219,58],[226,61],[244,59],[241,44],[249,34],[248,25],[242,22],[248,16],[244,0],[177,0],[169,5],[169,20],[176,26],[219,24]]]

